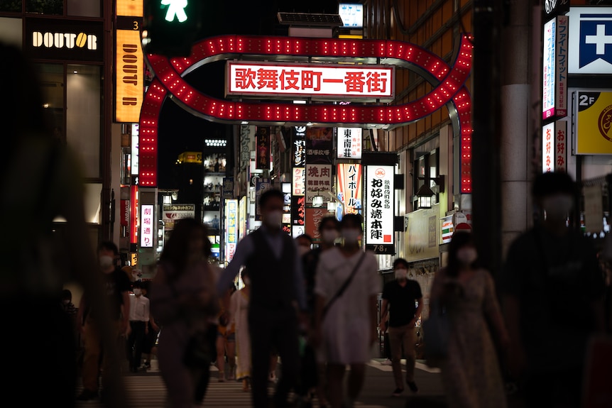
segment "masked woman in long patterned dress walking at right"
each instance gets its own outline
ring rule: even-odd
[[[430,296],[451,322],[448,357],[441,362],[450,408],[507,407],[498,349],[506,351],[510,341],[491,274],[477,260],[471,233],[454,233],[449,265],[436,274]]]

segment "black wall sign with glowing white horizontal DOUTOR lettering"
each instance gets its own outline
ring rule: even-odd
[[[43,60],[103,61],[102,21],[26,18],[24,51]]]

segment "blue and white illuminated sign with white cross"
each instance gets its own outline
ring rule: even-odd
[[[569,9],[569,73],[612,73],[612,7]]]

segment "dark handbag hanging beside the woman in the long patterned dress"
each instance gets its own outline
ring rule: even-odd
[[[451,323],[447,311],[439,300],[430,304],[430,316],[423,321],[425,342],[423,345],[427,365],[439,365],[448,357]]]

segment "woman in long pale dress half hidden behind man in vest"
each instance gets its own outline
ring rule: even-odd
[[[236,354],[238,357],[236,378],[242,380],[242,390],[248,392],[251,381],[251,338],[248,336],[248,297],[251,279],[246,269],[242,270],[244,287],[234,292],[230,300],[230,323],[236,327]]]

